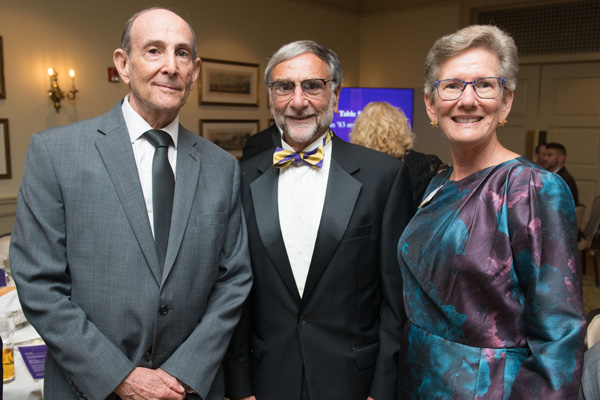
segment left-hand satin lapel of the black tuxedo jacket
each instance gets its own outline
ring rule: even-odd
[[[300,294],[296,287],[279,224],[277,195],[279,170],[273,168],[271,160],[269,153],[258,166],[261,175],[250,183],[254,214],[260,238],[271,262],[287,289],[299,303]]]

